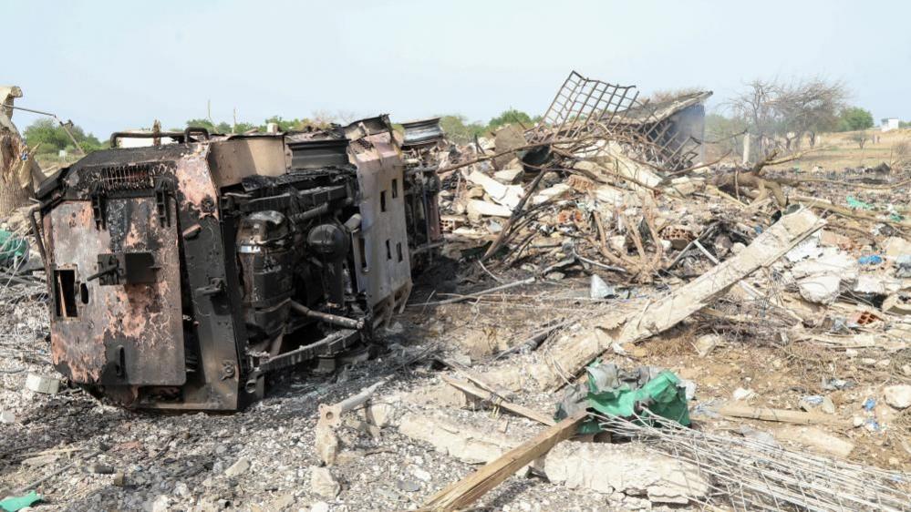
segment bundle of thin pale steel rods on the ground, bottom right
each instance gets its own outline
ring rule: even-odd
[[[699,432],[647,410],[597,416],[614,435],[688,463],[709,481],[707,507],[733,510],[911,510],[908,476],[797,452],[759,440]]]

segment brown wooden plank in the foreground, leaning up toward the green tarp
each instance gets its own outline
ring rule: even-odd
[[[484,496],[492,488],[502,484],[516,471],[530,464],[534,459],[543,456],[557,443],[572,437],[579,425],[588,418],[588,413],[580,411],[560,423],[548,427],[541,434],[519,445],[500,458],[482,466],[469,476],[446,486],[430,497],[422,509],[426,510],[460,510]]]

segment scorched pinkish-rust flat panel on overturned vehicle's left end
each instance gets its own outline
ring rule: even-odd
[[[171,219],[176,217],[171,202]],[[50,212],[52,282],[57,311],[51,323],[52,361],[83,384],[180,385],[186,379],[177,225],[160,222],[154,198],[109,199],[107,230],[98,230],[92,205],[67,200]],[[101,285],[99,254],[150,253],[150,283]],[[65,286],[60,271],[74,271]],[[67,274],[63,274],[67,275]],[[68,277],[67,277],[68,279]],[[69,308],[65,295],[73,294]],[[61,314],[62,313],[62,314]]]

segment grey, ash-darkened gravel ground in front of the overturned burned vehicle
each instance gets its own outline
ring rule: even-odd
[[[317,405],[357,393],[419,352],[431,334],[413,323],[387,340],[394,349],[384,356],[326,377],[285,375],[241,413],[152,415],[103,404],[78,389],[27,390],[27,374],[56,375],[42,335],[47,317],[35,302],[12,308],[4,323],[18,331],[2,345],[0,410],[15,419],[0,424],[0,497],[36,488],[45,498],[36,510],[400,510],[418,507],[473,469],[394,427],[371,435],[346,425],[339,430],[344,450],[329,468],[341,492],[332,498],[312,490]],[[439,383],[430,364],[419,363],[383,393]],[[467,423],[489,421],[487,412],[450,413]],[[510,418],[510,428],[524,436],[537,427]],[[483,503],[521,511],[608,507],[604,495],[520,476]]]

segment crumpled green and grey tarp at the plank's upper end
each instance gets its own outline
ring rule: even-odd
[[[668,370],[642,366],[633,371],[618,368],[615,364],[596,361],[585,369],[585,384],[570,387],[563,401],[557,406],[557,420],[574,415],[582,408],[601,415],[632,418],[642,416],[648,409],[680,425],[689,425],[687,392],[679,377]],[[595,420],[580,428],[581,434],[600,432]]]

